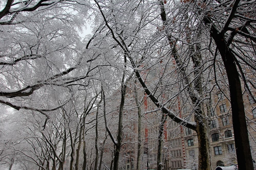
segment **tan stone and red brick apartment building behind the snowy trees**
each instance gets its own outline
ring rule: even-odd
[[[228,90],[226,90],[228,91]],[[225,93],[226,91],[217,91],[211,93],[209,107],[205,105],[205,112],[209,115],[210,142],[212,154],[212,169],[217,166],[229,166],[237,164],[236,151],[234,143],[234,133],[232,128],[231,106]],[[227,93],[228,94],[228,93]],[[253,92],[253,96],[256,93]],[[229,96],[229,95],[228,95]],[[256,159],[256,103],[252,96],[244,92],[243,95],[245,112],[247,117],[248,132],[253,159]],[[155,109],[150,99],[145,98],[142,105],[143,111],[151,111]],[[194,121],[193,108],[188,101],[177,99],[176,105],[172,106],[172,110],[177,116],[186,120]],[[159,132],[161,111],[147,113],[146,120],[143,123],[143,155],[141,160],[141,169],[156,169],[157,165],[157,135]],[[136,132],[137,130],[134,130]],[[184,128],[171,119],[167,118],[164,126],[164,135],[162,137],[162,169],[198,169],[198,138],[195,131]],[[126,161],[125,170],[132,170],[135,167],[136,147],[133,145],[130,155],[134,155],[133,159],[129,156]],[[126,150],[127,151],[127,150]],[[133,152],[133,153],[132,153]],[[127,152],[127,155],[128,152]],[[131,162],[134,162],[133,165]]]

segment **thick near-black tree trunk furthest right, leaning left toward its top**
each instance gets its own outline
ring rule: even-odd
[[[234,61],[235,56],[229,49],[223,36],[223,32],[219,33],[215,28],[211,27],[210,33],[221,54],[227,72],[238,166],[239,169],[253,170],[253,160],[247,132],[242,88],[239,72],[237,70],[236,62]]]

